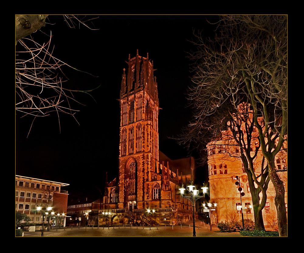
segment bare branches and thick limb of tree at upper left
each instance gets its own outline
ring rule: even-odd
[[[64,15],[68,26],[75,27],[76,22],[88,26],[76,16]],[[16,15],[16,111],[23,116],[44,117],[55,112],[70,114],[74,117],[77,110],[71,108],[74,99],[73,90],[64,86],[62,67],[71,66],[53,56],[52,34],[48,41],[40,44],[31,34],[46,25],[48,15]],[[19,42],[19,43],[18,43]],[[18,44],[17,44],[18,43]],[[79,91],[78,92],[89,92]],[[60,121],[59,121],[60,122]],[[60,123],[59,123],[60,127]]]

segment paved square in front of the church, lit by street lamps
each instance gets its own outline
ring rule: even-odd
[[[221,232],[213,226],[212,230],[207,225],[198,222],[195,224],[196,237],[244,237],[235,233]],[[24,231],[23,237],[41,237],[41,230],[35,232]],[[182,226],[159,227],[65,227],[44,230],[43,237],[193,237],[192,224],[184,223]],[[19,238],[19,237],[18,237]]]

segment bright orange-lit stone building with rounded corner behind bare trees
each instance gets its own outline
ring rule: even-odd
[[[240,109],[242,108],[242,109]],[[239,110],[244,110],[244,105],[239,106]],[[249,108],[249,107],[248,107]],[[252,112],[250,111],[250,114]],[[250,115],[249,114],[249,115]],[[251,118],[252,119],[252,118]],[[252,121],[252,120],[250,120]],[[245,130],[245,123],[242,123],[237,134],[244,134],[245,146],[250,149],[250,157],[253,159],[254,174],[260,182],[261,168],[265,168],[267,161],[263,161],[263,154],[259,148],[258,132],[252,128],[250,143],[248,143]],[[248,128],[247,128],[248,129]],[[248,131],[248,130],[247,130]],[[213,223],[230,221],[231,219],[241,219],[240,192],[235,182],[235,176],[240,177],[240,186],[243,189],[242,211],[244,219],[254,220],[253,202],[250,194],[248,176],[244,168],[244,163],[240,158],[240,147],[231,138],[230,130],[222,131],[222,136],[218,140],[208,143],[208,167],[209,167],[209,191],[210,202],[216,202],[216,212],[212,213]],[[257,149],[257,152],[256,152]],[[287,211],[287,152],[280,151],[275,159],[278,174],[285,186],[285,203]],[[247,165],[248,167],[248,165]],[[255,187],[257,187],[257,184]],[[260,199],[262,194],[260,193]],[[275,189],[271,181],[268,184],[267,200],[263,212],[264,225],[268,226],[276,217]]]

